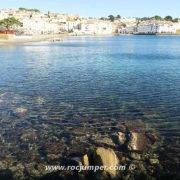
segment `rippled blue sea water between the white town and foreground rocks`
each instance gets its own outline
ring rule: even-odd
[[[73,151],[78,133],[106,136],[119,121],[142,120],[177,160],[180,37],[75,37],[1,46],[0,95],[1,158],[13,152],[14,161],[28,162],[39,153],[43,161],[45,150]],[[29,132],[39,138],[34,135],[34,143],[31,134],[28,156]]]

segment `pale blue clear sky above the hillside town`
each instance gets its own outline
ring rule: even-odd
[[[27,7],[83,16],[180,17],[180,0],[0,0],[0,8]]]

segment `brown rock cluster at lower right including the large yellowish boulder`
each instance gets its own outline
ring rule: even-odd
[[[100,137],[96,136],[94,146],[79,159],[82,159],[80,164],[84,166],[125,168],[85,171],[84,179],[148,179],[153,178],[154,173],[158,172],[157,169],[161,168],[158,156],[153,151],[153,145],[158,140],[157,135],[147,132],[143,123],[129,125],[128,122],[123,126],[108,138],[100,140]],[[97,142],[102,146],[98,147]]]

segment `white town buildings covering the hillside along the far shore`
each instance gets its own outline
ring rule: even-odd
[[[122,34],[175,34],[180,23],[167,21],[143,21],[136,18],[119,18],[114,22],[95,18],[83,18],[77,15],[60,13],[47,14],[26,9],[2,9],[0,20],[15,17],[23,26],[17,33],[25,35],[73,33],[74,35],[108,35]]]

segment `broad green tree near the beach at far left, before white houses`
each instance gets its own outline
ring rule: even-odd
[[[0,26],[6,30],[11,30],[14,27],[22,26],[23,24],[16,19],[15,17],[9,17],[3,20],[0,20]]]

